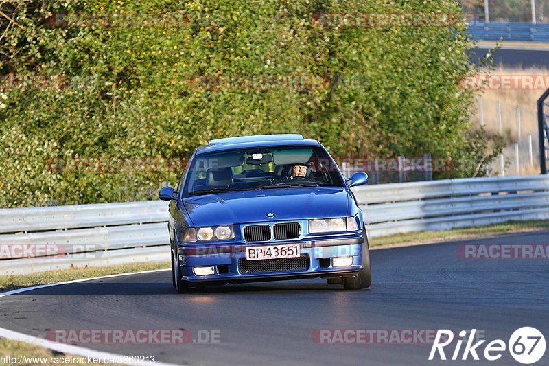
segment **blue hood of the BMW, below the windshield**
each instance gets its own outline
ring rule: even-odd
[[[227,192],[183,200],[196,227],[347,216],[344,187],[299,187]],[[274,214],[267,218],[266,214]]]

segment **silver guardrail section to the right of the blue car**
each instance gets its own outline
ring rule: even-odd
[[[549,218],[549,176],[358,187],[370,236]]]

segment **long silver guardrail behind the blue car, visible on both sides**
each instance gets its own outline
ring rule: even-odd
[[[353,192],[371,237],[549,218],[549,176],[395,183]],[[0,275],[168,262],[167,218],[165,201],[0,209]]]

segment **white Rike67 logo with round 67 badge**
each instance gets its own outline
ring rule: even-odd
[[[486,340],[482,339],[473,343],[476,340],[475,333],[476,329],[471,330],[471,332],[466,332],[465,330],[459,332],[456,347],[450,358],[452,361],[458,359],[466,361],[469,356],[478,361],[480,359],[479,354],[484,356],[484,359],[487,361],[496,361],[502,358],[503,352],[509,350],[509,353],[515,358],[515,361],[524,365],[530,365],[539,361],[545,354],[546,342],[544,334],[541,334],[536,328],[523,327],[515,330],[515,332],[511,334],[508,343],[505,343],[502,339],[495,339],[484,346],[484,352],[481,352],[481,346]],[[469,337],[465,339],[467,334],[469,334]],[[432,361],[435,358],[435,355],[438,354],[440,359],[445,361],[447,358],[444,348],[449,346],[453,341],[454,332],[452,330],[439,329],[438,332],[436,332],[429,360]],[[465,343],[465,347],[463,348],[462,353],[461,347],[463,343]],[[451,349],[447,349],[446,351],[451,351]],[[460,356],[461,358],[459,358]]]

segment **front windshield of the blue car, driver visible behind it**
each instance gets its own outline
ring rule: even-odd
[[[344,185],[323,148],[250,148],[197,155],[185,192],[216,192]]]

